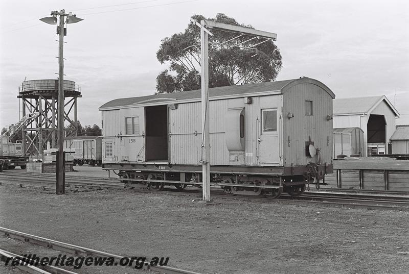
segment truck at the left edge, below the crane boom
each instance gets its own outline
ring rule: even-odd
[[[3,169],[13,169],[16,166],[26,169],[29,157],[23,155],[21,142],[12,143],[8,136],[2,135],[0,146],[0,171],[3,171]]]

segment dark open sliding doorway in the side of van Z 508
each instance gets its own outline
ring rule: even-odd
[[[145,108],[146,161],[168,161],[168,106]]]

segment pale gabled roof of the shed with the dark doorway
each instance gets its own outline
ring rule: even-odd
[[[385,95],[335,99],[333,101],[333,115],[367,114],[382,101],[385,101],[395,116],[399,116],[398,111]]]

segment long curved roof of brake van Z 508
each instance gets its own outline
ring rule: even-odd
[[[320,81],[311,79],[311,78],[307,78],[307,77],[302,77],[300,79],[276,81],[276,82],[209,88],[209,97],[234,96],[234,95],[240,95],[240,94],[244,95],[248,93],[258,93],[258,92],[268,92],[268,91],[282,91],[283,92],[285,87],[291,86],[291,84],[301,84],[301,83],[314,83],[314,84],[320,85],[332,96],[332,98],[335,97],[335,94],[323,83],[321,83]],[[197,89],[197,90],[189,90],[189,91],[176,92],[176,93],[164,93],[164,94],[155,94],[155,95],[147,95],[147,96],[140,96],[140,97],[119,98],[119,99],[114,99],[112,101],[105,103],[99,108],[99,110],[132,106],[132,105],[143,104],[143,103],[159,103],[159,102],[172,103],[172,101],[200,99],[200,97],[201,97],[201,91],[200,89]]]

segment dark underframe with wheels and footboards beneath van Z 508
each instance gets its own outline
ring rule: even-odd
[[[103,163],[103,169],[118,170],[124,183],[131,187],[162,190],[165,185],[183,189],[187,185],[201,187],[201,165],[160,163]],[[283,191],[301,195],[307,184],[325,184],[325,174],[332,173],[332,164],[306,166],[217,166],[210,168],[211,186],[233,194],[278,197]],[[322,181],[320,181],[322,180]]]

